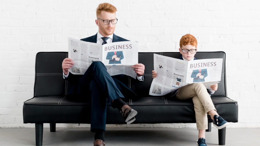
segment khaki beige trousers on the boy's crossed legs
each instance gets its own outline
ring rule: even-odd
[[[178,89],[176,98],[186,100],[192,98],[198,130],[208,129],[207,113],[216,108],[202,83],[193,83]]]

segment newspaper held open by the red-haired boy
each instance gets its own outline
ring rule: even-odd
[[[222,58],[185,61],[153,55],[154,70],[149,94],[162,96],[190,83],[202,82],[207,89],[221,80]]]

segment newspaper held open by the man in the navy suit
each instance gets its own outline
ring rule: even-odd
[[[75,62],[69,71],[84,74],[94,61],[101,61],[111,75],[126,74],[136,78],[131,68],[138,63],[138,43],[136,41],[96,44],[68,38],[68,57]]]

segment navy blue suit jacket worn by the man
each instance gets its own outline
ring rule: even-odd
[[[86,41],[86,42],[96,43],[96,39],[97,39],[97,34],[92,35],[88,38],[83,38],[81,40]],[[122,41],[129,41],[129,40],[121,38],[115,34],[113,35],[112,42],[122,42]],[[79,88],[77,88],[77,86],[78,86],[78,81],[82,76],[83,75],[75,75],[75,74],[69,73],[68,77],[66,78],[66,80],[68,80],[70,82],[70,84],[69,84],[70,89],[68,91],[68,94],[80,94],[79,91],[77,91],[77,89],[79,89]],[[126,85],[128,82],[128,76],[119,74],[119,75],[112,76],[112,78],[115,81],[117,87],[119,87],[121,89],[121,92],[125,97],[127,97],[127,98],[136,97],[135,92]]]

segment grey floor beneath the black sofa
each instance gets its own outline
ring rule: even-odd
[[[196,128],[107,128],[106,146],[196,146]],[[44,128],[44,146],[92,146],[94,133],[90,128]],[[206,132],[207,145],[218,145],[218,130]],[[0,128],[1,146],[35,145],[34,128]],[[260,128],[227,128],[226,146],[260,145]]]

